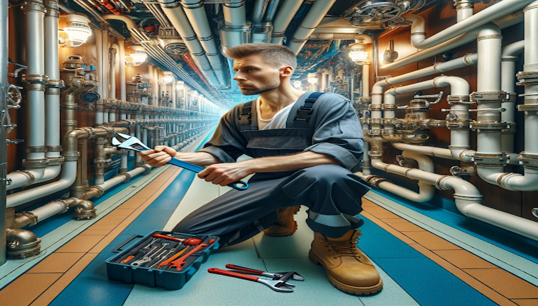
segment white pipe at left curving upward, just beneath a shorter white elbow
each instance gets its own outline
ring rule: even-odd
[[[30,190],[12,193],[6,196],[7,207],[15,207],[28,201],[39,199],[71,186],[76,178],[76,161],[63,163],[60,179],[53,183],[32,188]]]

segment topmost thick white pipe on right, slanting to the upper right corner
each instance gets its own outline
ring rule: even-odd
[[[458,35],[469,32],[474,28],[487,24],[497,18],[503,17],[508,13],[522,9],[531,3],[533,0],[503,0],[488,6],[484,10],[466,18],[455,25],[445,28],[443,31],[434,34],[426,39],[426,26],[424,23],[413,23],[411,29],[412,45],[415,48],[426,49],[439,45],[449,39],[455,38]],[[408,16],[406,16],[406,19]]]

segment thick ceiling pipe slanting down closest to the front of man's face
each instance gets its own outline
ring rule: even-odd
[[[183,10],[187,16],[190,25],[193,27],[194,32],[198,40],[200,41],[202,48],[206,52],[207,58],[211,63],[213,71],[218,79],[218,85],[221,88],[227,88],[228,82],[225,79],[224,63],[221,60],[220,51],[217,48],[215,38],[209,27],[209,20],[207,19],[206,9],[204,9],[203,2],[199,0],[178,0],[183,6]]]

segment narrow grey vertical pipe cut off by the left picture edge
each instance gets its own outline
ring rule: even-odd
[[[8,112],[9,2],[0,3],[0,113]],[[6,129],[0,127],[0,229],[5,229],[8,142]],[[6,261],[6,233],[0,231],[0,266]]]

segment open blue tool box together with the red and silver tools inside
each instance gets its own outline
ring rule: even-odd
[[[141,239],[122,250],[137,238]],[[133,235],[112,250],[118,254],[105,261],[108,278],[150,287],[181,289],[218,248],[218,239],[167,231]]]

